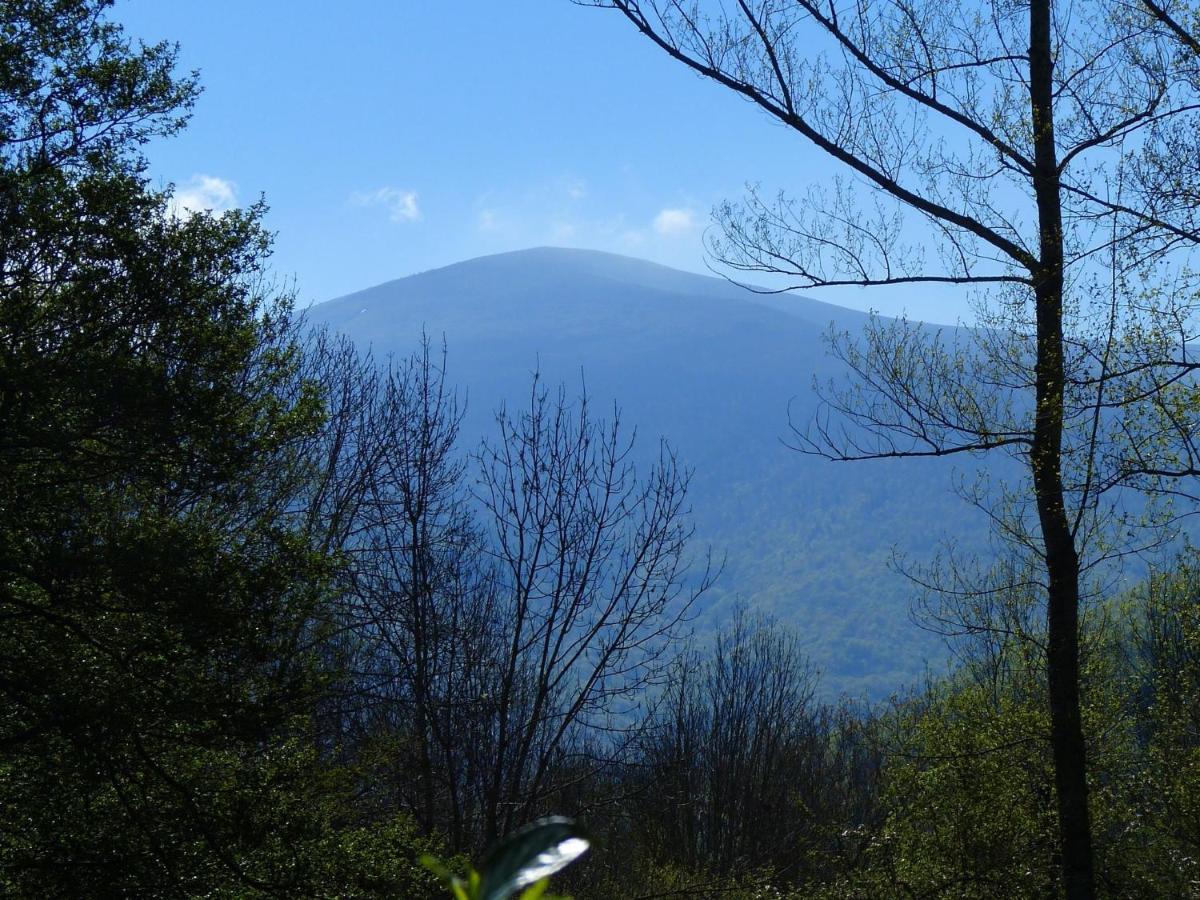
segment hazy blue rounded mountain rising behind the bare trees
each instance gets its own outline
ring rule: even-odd
[[[893,552],[928,559],[940,539],[982,547],[985,523],[941,461],[833,463],[788,449],[788,415],[816,409],[814,379],[844,374],[830,325],[863,313],[804,296],[766,300],[720,278],[626,257],[538,248],[484,257],[319,304],[314,324],[377,354],[443,337],[468,397],[464,431],[528,397],[535,370],[598,409],[616,402],[642,445],[664,436],[694,470],[695,548],[727,563],[696,622],[731,604],[792,624],[830,691],[880,696],[944,652],[908,618]]]

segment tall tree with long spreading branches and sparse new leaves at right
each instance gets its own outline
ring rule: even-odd
[[[751,191],[724,205],[719,262],[796,287],[961,286],[1000,304],[997,326],[971,336],[978,355],[904,323],[842,344],[865,390],[833,398],[842,425],[802,439],[838,460],[1007,450],[1025,464],[1033,509],[997,521],[1040,568],[1062,881],[1069,898],[1093,896],[1079,694],[1088,535],[1118,486],[1170,492],[1196,470],[1194,149],[1181,140],[1196,95],[1171,26],[1186,17],[1148,2],[1082,16],[1052,0],[593,5],[851,176],[799,202]],[[1178,282],[1165,296],[1164,272]]]

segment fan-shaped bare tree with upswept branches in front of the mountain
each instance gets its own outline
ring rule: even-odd
[[[688,475],[660,444],[638,476],[619,414],[551,395],[502,410],[480,454],[505,648],[494,694],[485,836],[619,758],[662,683],[685,617],[710,583],[689,577]]]

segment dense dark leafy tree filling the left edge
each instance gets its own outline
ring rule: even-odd
[[[286,889],[326,814],[332,566],[289,511],[322,404],[262,209],[148,185],[196,79],[108,6],[0,10],[0,884]]]

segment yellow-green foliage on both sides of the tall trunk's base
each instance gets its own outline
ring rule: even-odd
[[[1085,622],[1084,730],[1099,895],[1196,896],[1200,578],[1188,560]],[[878,827],[829,898],[1062,892],[1038,635],[979,637],[962,665],[880,721]]]

